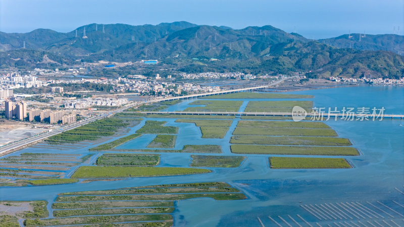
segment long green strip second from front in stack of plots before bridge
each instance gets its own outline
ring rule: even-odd
[[[230,143],[269,144],[269,145],[304,145],[304,146],[350,146],[346,138],[307,137],[307,136],[233,136]]]

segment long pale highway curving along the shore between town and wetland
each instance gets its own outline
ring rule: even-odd
[[[207,93],[200,93],[200,94],[191,94],[191,95],[184,95],[184,96],[177,96],[177,97],[154,98],[154,99],[147,100],[147,101],[146,101],[146,104],[147,104],[147,103],[160,102],[160,101],[169,101],[169,100],[178,100],[178,99],[188,99],[188,98],[195,98],[195,97],[202,97],[202,96],[210,96],[210,95],[217,95],[217,94],[227,94],[227,93],[235,93],[235,92],[243,92],[243,91],[252,91],[252,90],[257,90],[257,89],[264,89],[264,88],[268,88],[268,87],[271,87],[271,86],[276,86],[276,85],[278,85],[278,84],[284,82],[285,80],[288,80],[288,79],[291,79],[291,78],[294,78],[294,77],[296,77],[296,76],[293,76],[293,77],[285,77],[285,78],[282,78],[282,79],[280,79],[280,80],[271,82],[271,83],[269,83],[269,84],[261,85],[261,86],[255,86],[255,87],[246,87],[246,88],[231,89],[231,90],[224,90],[224,91],[217,91],[217,92],[207,92]],[[31,137],[28,137],[28,138],[25,138],[25,139],[22,139],[22,140],[19,140],[19,141],[15,141],[15,142],[6,144],[6,145],[0,147],[0,156],[1,156],[1,155],[4,155],[4,154],[5,154],[6,152],[8,152],[8,151],[17,150],[17,149],[22,148],[22,147],[24,147],[24,146],[26,146],[26,145],[28,145],[28,144],[30,144],[30,143],[33,143],[33,142],[36,142],[36,141],[40,141],[40,140],[46,139],[47,137],[50,137],[50,136],[53,136],[53,135],[56,135],[56,134],[59,134],[59,133],[62,133],[62,132],[66,132],[66,131],[68,131],[68,130],[77,128],[77,127],[79,127],[79,126],[82,126],[82,125],[91,123],[91,122],[96,121],[96,120],[99,120],[99,119],[111,117],[111,116],[115,115],[115,113],[122,112],[122,111],[124,111],[124,110],[126,110],[126,109],[128,109],[128,108],[136,107],[136,106],[139,106],[139,105],[141,105],[141,104],[143,104],[143,103],[142,103],[142,102],[130,103],[130,104],[125,105],[124,107],[121,107],[121,108],[119,108],[119,109],[110,111],[110,112],[108,112],[108,113],[106,113],[106,114],[104,114],[104,115],[100,115],[100,116],[97,116],[97,117],[93,117],[93,118],[87,119],[87,120],[85,120],[85,121],[77,122],[77,123],[72,124],[72,125],[61,126],[61,127],[57,128],[57,129],[54,129],[54,130],[52,130],[52,131],[50,131],[50,132],[45,132],[45,133],[37,134],[37,135],[35,135],[35,136],[31,136]]]

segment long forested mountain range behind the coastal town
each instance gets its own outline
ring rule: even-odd
[[[403,43],[404,36],[389,34],[311,40],[269,25],[232,29],[188,22],[89,24],[67,33],[49,29],[0,32],[0,67],[158,59],[178,72],[399,78],[404,76]]]

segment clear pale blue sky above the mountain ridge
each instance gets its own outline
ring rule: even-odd
[[[272,25],[307,38],[404,34],[404,0],[0,0],[0,31],[90,24],[188,21],[232,28]]]

